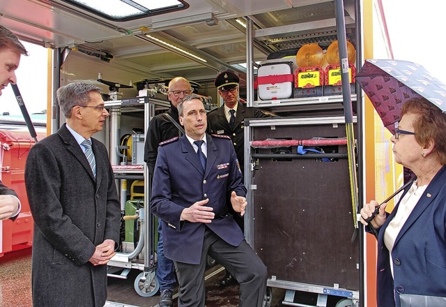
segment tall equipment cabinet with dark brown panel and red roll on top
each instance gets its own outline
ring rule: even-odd
[[[268,286],[288,290],[284,304],[310,306],[293,303],[299,291],[314,293],[316,306],[333,297],[359,300],[344,123],[344,117],[245,120],[251,162],[245,163],[245,235],[268,267]]]

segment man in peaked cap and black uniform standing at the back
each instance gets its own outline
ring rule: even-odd
[[[222,107],[218,107],[208,113],[208,130],[209,134],[228,135],[231,137],[240,169],[244,172],[245,164],[245,142],[243,128],[245,118],[259,118],[259,117],[275,117],[275,114],[266,112],[255,107],[247,107],[240,102],[239,99],[239,77],[230,71],[224,71],[217,75],[214,84],[217,87],[220,97],[224,101]],[[230,206],[229,206],[230,207]],[[231,212],[240,226],[244,229],[243,218],[238,214]],[[231,274],[226,271],[226,275],[220,280],[220,285],[226,287],[233,285],[236,280]]]

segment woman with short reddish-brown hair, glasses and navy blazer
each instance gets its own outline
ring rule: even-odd
[[[399,307],[407,294],[446,297],[446,114],[410,99],[391,141],[395,161],[416,180],[391,214],[383,204],[370,222],[378,232],[378,307]],[[376,206],[364,205],[361,223]]]

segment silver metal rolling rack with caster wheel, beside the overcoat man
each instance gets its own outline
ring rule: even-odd
[[[118,145],[121,138],[121,114],[131,114],[132,112],[144,112],[144,132],[148,129],[148,123],[155,116],[156,110],[162,110],[169,107],[169,101],[160,98],[158,95],[154,97],[136,97],[122,100],[106,101],[105,107],[109,110],[108,121],[108,148],[109,157],[114,167],[115,179],[117,186],[121,191],[123,181],[137,179],[144,180],[144,208],[139,209],[132,217],[135,223],[140,223],[142,231],[139,234],[139,241],[134,250],[130,253],[119,252],[109,261],[107,276],[115,278],[128,278],[131,269],[138,269],[141,274],[134,280],[134,290],[141,297],[151,297],[159,290],[159,283],[155,278],[155,223],[153,215],[150,214],[150,177],[146,165],[137,165],[138,167],[121,167],[120,157],[118,156]],[[134,165],[132,165],[134,166]],[[121,211],[125,211],[125,202],[127,201],[126,192],[121,193]],[[138,256],[144,255],[144,260]]]

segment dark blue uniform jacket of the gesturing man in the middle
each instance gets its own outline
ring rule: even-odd
[[[232,191],[245,196],[246,188],[236,163],[236,153],[226,136],[206,135],[208,155],[203,172],[187,137],[158,148],[153,176],[151,211],[162,219],[164,255],[171,260],[199,264],[205,227],[232,246],[243,241],[243,232],[229,214],[226,202]],[[183,209],[209,199],[212,223],[180,221]]]

